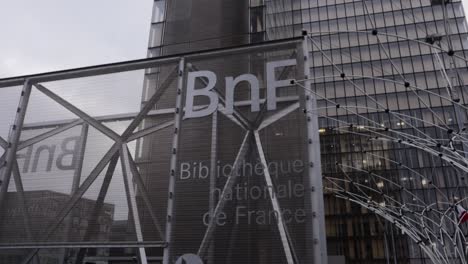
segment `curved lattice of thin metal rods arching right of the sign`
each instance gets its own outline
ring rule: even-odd
[[[320,37],[322,34],[335,34],[335,33],[354,33],[354,34],[368,34],[376,39],[381,51],[385,54],[386,59],[391,65],[392,70],[397,72],[401,80],[390,78],[382,78],[375,76],[362,76],[362,75],[349,75],[344,72],[339,65],[333,62],[329,54],[322,50],[320,45]],[[408,80],[408,76],[403,74],[403,69],[398,67],[396,62],[390,56],[389,48],[385,46],[385,40],[395,38],[398,40],[410,41],[416,43],[418,46],[424,46],[431,50],[434,61],[438,66],[441,76],[445,80],[445,87],[447,95],[442,95],[430,91],[426,87],[419,87]],[[442,39],[442,37],[441,37]],[[325,119],[332,119],[338,126],[333,130],[338,134],[353,134],[357,137],[362,137],[365,141],[381,141],[390,144],[402,145],[407,148],[414,148],[418,151],[426,152],[433,156],[433,159],[441,159],[446,164],[457,171],[459,188],[466,186],[465,175],[468,172],[467,167],[467,152],[466,152],[466,124],[465,114],[466,104],[461,102],[459,93],[455,89],[455,84],[461,86],[461,91],[465,89],[462,74],[458,72],[455,65],[466,65],[467,59],[463,56],[455,55],[453,51],[453,44],[448,41],[447,50],[445,50],[439,43],[430,41],[418,41],[408,39],[399,35],[392,35],[387,33],[372,31],[346,31],[346,32],[327,32],[320,34],[310,34],[309,40],[314,48],[323,55],[332,67],[336,75],[333,76],[316,76],[316,78],[309,78],[306,80],[297,80],[299,86],[308,90],[307,85],[302,85],[304,82],[314,81],[315,79],[323,78],[341,78],[349,82],[356,90],[362,92],[369,102],[373,102],[375,107],[359,106],[359,105],[340,105],[334,100],[330,100],[316,91],[311,91],[317,98],[325,100],[330,106],[326,108],[342,109],[350,115],[357,117],[356,123],[350,123],[343,120],[338,120],[333,117],[323,116]],[[440,41],[440,39],[439,39]],[[445,55],[445,56],[444,56]],[[443,58],[445,57],[445,58]],[[448,59],[446,59],[448,58]],[[466,67],[466,66],[465,66]],[[456,79],[452,80],[447,72],[455,72]],[[375,96],[369,95],[366,90],[356,80],[358,79],[372,79],[379,80],[383,83],[391,83],[405,87],[407,93],[415,96],[415,100],[419,101],[421,108],[429,111],[434,115],[434,119],[440,122],[439,124],[428,122],[427,120],[418,118],[416,116],[405,115],[396,110],[390,109],[386,104],[377,101]],[[440,114],[435,113],[428,104],[425,96],[436,96],[446,104],[452,106],[456,117],[456,127],[447,125],[442,120]],[[317,109],[320,112],[322,109]],[[338,111],[338,110],[337,110]],[[307,110],[310,112],[310,110]],[[380,112],[387,113],[388,118],[397,120],[399,123],[408,125],[416,133],[405,133],[399,131],[400,129],[392,127],[390,122],[384,124],[376,122],[366,117],[362,113]],[[441,138],[433,138],[424,131],[420,130],[414,124],[417,122],[424,123],[425,126],[434,126],[440,130],[443,136]],[[457,147],[456,147],[457,146]],[[343,178],[335,176],[324,175],[325,191],[334,194],[337,198],[356,203],[368,211],[373,212],[382,219],[389,221],[391,224],[401,230],[403,234],[408,235],[431,259],[433,263],[467,263],[467,241],[466,230],[460,225],[458,219],[459,212],[457,205],[463,204],[467,197],[460,198],[455,194],[447,195],[447,193],[434,183],[431,175],[423,175],[418,171],[411,168],[404,160],[395,160],[389,157],[376,155],[369,152],[365,146],[360,146],[359,151],[363,159],[377,158],[388,162],[391,166],[395,166],[402,170],[408,170],[409,174],[415,179],[421,181],[423,188],[431,189],[437,193],[442,199],[432,200],[421,197],[408,189],[401,179],[388,178],[385,175],[375,172],[372,169],[364,169],[354,164],[342,164],[336,162],[336,168],[342,173]],[[358,177],[351,176],[351,174],[358,174]]]

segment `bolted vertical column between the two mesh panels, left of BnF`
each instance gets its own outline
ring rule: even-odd
[[[167,197],[167,217],[166,217],[166,243],[164,248],[163,264],[169,264],[172,249],[172,227],[174,222],[174,190],[177,170],[177,155],[179,151],[180,124],[182,122],[182,90],[184,85],[185,59],[179,62],[179,73],[177,79],[177,96],[174,114],[174,136],[172,137],[171,169],[169,175],[168,197]]]

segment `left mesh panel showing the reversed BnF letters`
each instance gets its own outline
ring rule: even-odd
[[[169,64],[164,67],[174,68]],[[13,88],[0,90],[5,95],[1,97],[5,100],[2,126],[18,127],[13,121],[15,114],[18,119],[22,113],[19,95],[26,94],[28,99],[19,138],[16,144],[10,144],[16,158],[11,159],[10,180],[2,184],[7,191],[2,198],[0,225],[2,248],[23,250],[0,250],[2,263],[143,259],[144,249],[138,249],[138,244],[163,245],[163,229],[157,217],[164,219],[165,212],[156,216],[154,199],[145,188],[148,175],[140,175],[143,168],[136,162],[142,157],[138,154],[142,149],[140,138],[154,136],[172,125],[150,126],[152,117],[159,114],[172,119],[171,105],[175,103],[169,102],[172,75],[161,76],[167,79],[166,84],[158,81],[143,85],[144,75],[154,71],[148,68],[35,82],[25,86],[30,88],[27,93],[14,87],[17,96],[12,94]],[[153,94],[146,91],[148,87]],[[10,104],[16,106],[8,111]],[[2,139],[11,140],[7,132],[2,133]],[[2,143],[2,147],[8,146]],[[153,221],[145,221],[148,215]]]

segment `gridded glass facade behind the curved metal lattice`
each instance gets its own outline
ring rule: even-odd
[[[362,200],[385,192],[400,205],[418,204],[412,210],[423,213],[428,204],[442,209],[466,197],[463,170],[398,141],[449,144],[454,138],[447,131],[463,133],[466,126],[466,111],[454,102],[464,105],[467,100],[467,24],[461,1],[442,2],[251,1],[252,41],[290,38],[302,30],[312,36],[311,76],[322,115],[322,168],[330,189],[340,183],[345,192],[359,193],[363,187],[354,182],[374,181],[377,192],[366,191],[370,198]],[[460,58],[451,57],[451,51]],[[387,130],[370,133],[367,128],[375,126]],[[390,136],[389,130],[405,134],[379,139]],[[462,142],[454,147],[459,153],[466,151]],[[394,186],[387,186],[387,179]],[[329,190],[325,199],[329,255],[343,255],[346,263],[430,262],[421,241],[409,239],[375,210],[336,194]]]

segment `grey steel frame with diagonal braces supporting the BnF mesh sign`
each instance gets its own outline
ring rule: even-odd
[[[13,176],[15,181],[16,191],[20,195],[22,200],[21,206],[26,206],[25,199],[22,189],[22,179],[20,175],[20,170],[18,168],[18,163],[16,161],[16,153],[17,151],[24,149],[28,146],[31,146],[35,143],[38,143],[42,140],[45,140],[49,137],[57,135],[63,131],[71,129],[76,126],[82,126],[82,136],[81,136],[81,152],[83,153],[84,148],[86,147],[86,138],[87,138],[87,131],[88,127],[93,127],[102,134],[106,135],[109,139],[114,141],[113,145],[110,149],[106,152],[106,154],[102,157],[102,159],[97,163],[95,168],[91,171],[91,173],[81,182],[79,177],[78,180],[74,180],[72,194],[65,204],[65,206],[60,210],[58,215],[55,217],[56,221],[53,225],[48,227],[48,230],[45,232],[45,235],[40,238],[33,238],[36,241],[40,241],[38,243],[20,243],[20,244],[8,244],[8,245],[0,245],[1,249],[30,249],[30,252],[24,256],[22,263],[32,263],[32,262],[39,262],[37,258],[37,254],[39,249],[44,248],[81,248],[75,258],[75,263],[82,263],[85,257],[85,248],[112,248],[112,247],[127,247],[127,248],[136,248],[137,249],[137,256],[139,263],[148,263],[147,255],[146,255],[146,248],[148,247],[162,247],[164,248],[164,256],[163,256],[163,263],[172,263],[171,260],[171,244],[172,244],[172,229],[173,229],[173,215],[175,214],[174,209],[174,200],[175,200],[175,175],[177,170],[177,156],[178,156],[178,148],[179,148],[179,135],[180,135],[180,125],[182,121],[182,96],[184,93],[184,76],[186,69],[189,67],[190,70],[193,70],[194,65],[187,64],[187,59],[196,59],[196,58],[204,58],[204,57],[213,57],[213,56],[223,56],[223,55],[232,55],[237,53],[243,52],[254,52],[254,51],[263,51],[265,48],[281,48],[285,46],[293,46],[298,45],[301,47],[301,43],[304,43],[304,49],[307,50],[306,42],[303,42],[301,39],[295,40],[288,40],[288,41],[278,41],[275,43],[267,43],[267,44],[260,44],[260,45],[252,45],[240,48],[233,48],[233,49],[221,49],[215,51],[208,51],[208,52],[200,52],[196,54],[185,54],[182,56],[171,56],[167,58],[155,58],[155,59],[148,59],[144,61],[138,62],[126,62],[117,65],[109,65],[109,66],[102,66],[90,69],[80,69],[80,70],[72,70],[70,72],[63,72],[63,73],[55,73],[55,74],[45,74],[45,75],[38,75],[32,76],[29,78],[25,78],[24,80],[7,80],[2,81],[1,86],[5,87],[8,85],[16,84],[19,82],[23,83],[23,90],[21,92],[21,100],[19,102],[15,123],[12,126],[10,135],[8,139],[0,138],[1,147],[5,149],[5,153],[2,156],[2,166],[1,166],[1,178],[3,179],[3,184],[1,185],[1,195],[0,195],[0,206],[4,206],[5,197],[8,191],[8,186],[10,183],[10,177]],[[305,52],[304,59],[307,60],[308,52]],[[176,103],[175,108],[173,109],[164,109],[164,110],[153,110],[154,105],[161,99],[161,96],[164,94],[166,89],[169,87],[170,83],[172,82],[173,75],[171,74],[168,79],[163,82],[160,89],[152,95],[151,99],[148,100],[141,111],[137,114],[124,114],[124,115],[115,115],[115,116],[105,116],[105,117],[92,117],[89,116],[84,111],[80,110],[67,100],[61,98],[56,93],[52,92],[48,89],[43,83],[44,81],[51,81],[51,80],[60,80],[60,79],[68,79],[68,78],[75,78],[75,77],[83,77],[83,76],[93,76],[96,74],[102,73],[115,73],[121,71],[127,71],[132,69],[140,69],[146,67],[158,67],[160,65],[165,65],[168,63],[179,62],[178,69],[174,72],[177,76],[177,96],[176,96]],[[307,78],[307,68],[305,68],[305,78]],[[57,102],[59,105],[64,107],[65,109],[69,110],[73,114],[75,114],[78,119],[76,120],[66,120],[66,121],[59,121],[49,124],[40,124],[41,127],[53,127],[52,130],[49,130],[45,133],[39,134],[33,138],[30,138],[26,141],[20,141],[21,132],[24,126],[24,118],[27,111],[28,101],[31,95],[31,90],[36,89],[49,97],[50,99]],[[219,106],[220,113],[224,114],[224,99],[220,95],[220,99],[222,103]],[[306,97],[308,102],[313,101],[313,95],[310,92],[306,92]],[[297,101],[297,99],[296,99]],[[307,108],[312,109],[312,104],[307,104]],[[237,110],[234,114],[229,115],[228,117],[235,121],[235,123],[239,124],[245,131],[245,137],[243,143],[239,149],[239,153],[236,157],[234,162],[234,169],[231,172],[230,177],[228,178],[226,185],[224,187],[223,192],[233,187],[234,182],[236,181],[237,176],[235,175],[235,171],[239,167],[240,162],[245,158],[246,152],[248,148],[254,147],[256,151],[259,153],[261,157],[261,162],[264,165],[264,176],[265,182],[268,185],[268,190],[270,191],[271,197],[271,205],[276,212],[279,212],[280,205],[278,200],[275,198],[275,189],[273,186],[273,182],[271,176],[268,171],[268,165],[266,161],[266,157],[264,155],[262,143],[259,137],[259,131],[266,128],[267,126],[271,125],[275,121],[281,119],[285,115],[291,113],[299,109],[299,103],[294,103],[287,107],[286,109],[279,111],[277,114],[272,115],[268,118],[259,118],[256,122],[252,123],[246,120],[241,113]],[[264,114],[265,109],[260,113],[259,116]],[[145,128],[143,130],[138,130],[134,132],[134,130],[140,125],[141,121],[148,117],[148,116],[156,116],[160,114],[173,114],[174,120],[168,121],[162,124],[157,124],[155,126],[151,126]],[[213,115],[216,116],[216,115]],[[308,117],[310,120],[310,126],[308,127],[310,134],[315,131],[315,137],[311,137],[310,144],[312,145],[312,141],[314,146],[312,146],[310,150],[310,164],[320,164],[319,153],[314,152],[318,148],[318,128],[317,122],[312,122],[313,119]],[[113,130],[109,129],[107,126],[103,124],[103,122],[109,121],[122,121],[122,120],[130,120],[130,124],[124,130],[122,134],[117,134]],[[214,119],[215,120],[215,119]],[[161,241],[145,241],[142,234],[142,228],[140,226],[140,216],[138,212],[138,207],[136,203],[136,191],[141,195],[143,198],[144,204],[146,205],[149,212],[154,212],[153,205],[151,204],[148,190],[145,188],[144,181],[142,180],[137,165],[135,161],[132,159],[131,153],[128,149],[127,144],[142,138],[146,135],[151,133],[157,132],[161,129],[165,129],[167,127],[173,127],[174,134],[172,140],[172,158],[171,158],[171,168],[168,172],[169,177],[169,186],[168,186],[168,206],[167,206],[167,217],[165,220],[161,221],[156,217],[153,213],[151,214],[151,219],[154,224],[154,228],[159,233]],[[81,154],[81,166],[83,163],[84,155]],[[89,187],[95,182],[96,178],[99,174],[107,167],[107,172],[105,173],[105,178],[103,181],[102,186],[100,187],[100,192],[97,197],[96,203],[93,208],[92,220],[96,221],[98,217],[98,212],[103,206],[103,202],[109,188],[109,183],[113,177],[113,172],[116,168],[117,161],[120,159],[121,166],[122,166],[122,174],[123,174],[123,181],[125,183],[125,192],[127,196],[129,214],[131,215],[131,219],[133,221],[134,229],[136,231],[136,238],[137,241],[132,242],[102,242],[102,243],[92,243],[92,242],[67,242],[67,243],[59,243],[59,242],[47,242],[47,240],[51,237],[51,235],[57,230],[58,226],[67,219],[67,215],[72,211],[72,209],[77,205],[79,200],[82,198],[83,194],[89,189]],[[80,165],[78,165],[80,166]],[[316,242],[316,250],[315,253],[317,254],[316,262],[317,263],[325,263],[326,262],[326,248],[325,245],[325,238],[324,238],[324,215],[323,215],[323,201],[321,199],[323,194],[321,192],[321,179],[320,177],[312,177],[312,175],[321,175],[320,173],[320,166],[310,166],[311,169],[309,171],[309,175],[311,175],[311,179],[315,179],[315,186],[314,189],[316,190],[316,197],[313,198],[314,206],[318,206],[317,216],[317,238],[316,241],[321,241],[321,243]],[[78,174],[81,174],[81,169],[78,170]],[[134,183],[135,185],[133,185]],[[317,200],[318,199],[318,200]],[[214,234],[216,224],[214,223],[213,219],[217,217],[219,212],[225,206],[225,199],[224,196],[217,202],[216,205],[212,205],[213,215],[211,216],[211,220],[209,225],[207,226],[207,230],[203,240],[201,241],[200,248],[198,251],[198,255],[203,257],[209,248],[209,243],[212,240],[212,236]],[[322,206],[322,207],[320,207]],[[24,209],[24,208],[23,208]],[[25,212],[24,220],[25,220],[25,228],[30,230],[32,222],[31,218],[27,215],[27,210],[23,210]],[[320,213],[319,213],[320,212]],[[320,214],[320,216],[319,216]],[[163,229],[161,225],[165,225]],[[295,260],[296,256],[294,255],[294,249],[292,248],[290,237],[288,235],[287,227],[279,215],[279,219],[277,222],[277,228],[280,234],[281,244],[284,248],[284,254],[286,256],[288,263],[297,263]],[[165,232],[163,231],[165,230]],[[320,231],[320,232],[319,232]],[[30,231],[28,231],[31,233]],[[84,235],[83,241],[89,239],[90,235],[92,234],[93,229],[89,227],[86,234]]]

